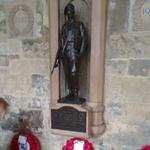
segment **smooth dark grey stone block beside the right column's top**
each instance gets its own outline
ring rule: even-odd
[[[130,1],[109,0],[108,33],[128,31]],[[121,16],[121,17],[120,17]]]

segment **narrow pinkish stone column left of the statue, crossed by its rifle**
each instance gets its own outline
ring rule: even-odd
[[[58,50],[58,0],[49,0],[49,25],[50,25],[50,69],[52,70]],[[51,78],[51,105],[59,99],[59,70],[56,68]]]

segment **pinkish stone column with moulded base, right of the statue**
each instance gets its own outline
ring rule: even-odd
[[[104,129],[104,53],[107,0],[92,1],[91,57],[90,57],[90,92],[89,105],[93,108],[92,133],[101,134]]]

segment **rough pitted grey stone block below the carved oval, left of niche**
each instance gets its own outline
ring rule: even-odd
[[[42,40],[23,41],[23,52],[26,57],[49,57],[49,44]]]

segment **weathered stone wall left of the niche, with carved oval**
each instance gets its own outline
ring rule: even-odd
[[[9,149],[20,117],[37,135],[49,128],[48,24],[47,0],[0,1],[0,97],[10,105],[0,150]]]

